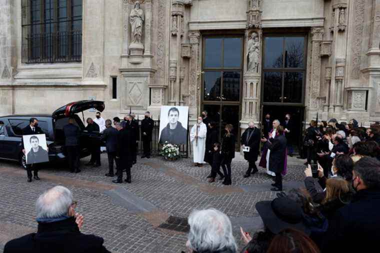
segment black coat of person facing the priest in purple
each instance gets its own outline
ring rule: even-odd
[[[270,138],[267,144],[268,149],[270,149],[270,169],[273,169],[275,173],[282,172],[285,162],[286,137],[282,134],[276,135],[274,138]]]

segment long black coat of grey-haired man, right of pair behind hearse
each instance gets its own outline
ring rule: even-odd
[[[132,166],[135,141],[133,132],[129,129],[122,128],[118,131],[116,156],[120,157],[120,165],[123,168]]]

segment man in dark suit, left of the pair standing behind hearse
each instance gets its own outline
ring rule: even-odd
[[[116,145],[117,145],[117,134],[116,128],[112,127],[112,122],[110,119],[105,120],[105,129],[103,135],[101,136],[101,141],[105,142],[105,147],[108,156],[108,173],[105,176],[113,176],[113,160],[116,163],[116,171],[118,167],[118,160],[116,159]]]

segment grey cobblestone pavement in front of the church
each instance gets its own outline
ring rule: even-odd
[[[57,184],[68,187],[78,201],[77,211],[83,214],[85,222],[82,232],[102,236],[112,252],[180,252],[185,250],[186,234],[158,227],[169,215],[187,217],[195,208],[215,207],[231,218],[257,219],[255,203],[275,196],[269,190],[272,180],[263,168],[253,176],[242,177],[247,162],[241,157],[232,160],[232,186],[224,186],[220,181],[207,183],[210,166],[194,167],[191,158],[138,159],[132,168],[131,184],[113,184],[112,178],[104,176],[108,171],[105,153],[101,154],[100,167],[85,166],[88,159],[81,159],[82,171],[77,174],[70,173],[64,165],[44,166],[39,172],[41,180],[31,183],[26,182],[26,172],[16,163],[0,161],[0,252],[7,240],[36,230],[34,201],[41,192]],[[302,163],[303,160],[290,158],[283,180],[301,181]],[[265,190],[247,192],[241,187],[263,183],[268,184]],[[109,192],[115,189],[127,191],[155,208],[132,211],[135,208],[128,208],[128,203],[120,204],[128,196],[112,199]],[[236,227],[234,235],[241,246]]]

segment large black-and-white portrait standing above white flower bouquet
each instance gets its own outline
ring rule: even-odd
[[[161,106],[159,143],[186,144],[188,106]]]

